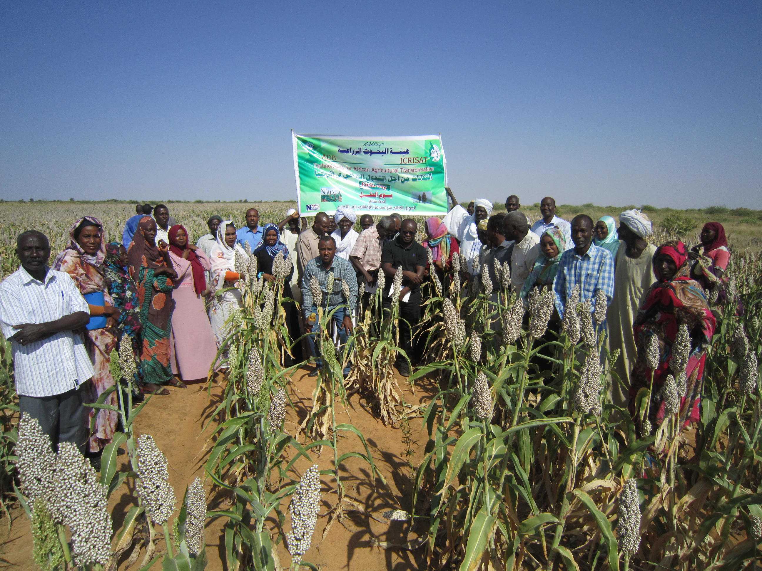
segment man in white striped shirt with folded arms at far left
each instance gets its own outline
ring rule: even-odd
[[[88,304],[68,273],[47,266],[45,234],[20,234],[16,255],[21,267],[0,283],[0,327],[11,341],[19,410],[37,419],[54,449],[73,442],[84,450],[93,368],[75,330],[88,323]]]

